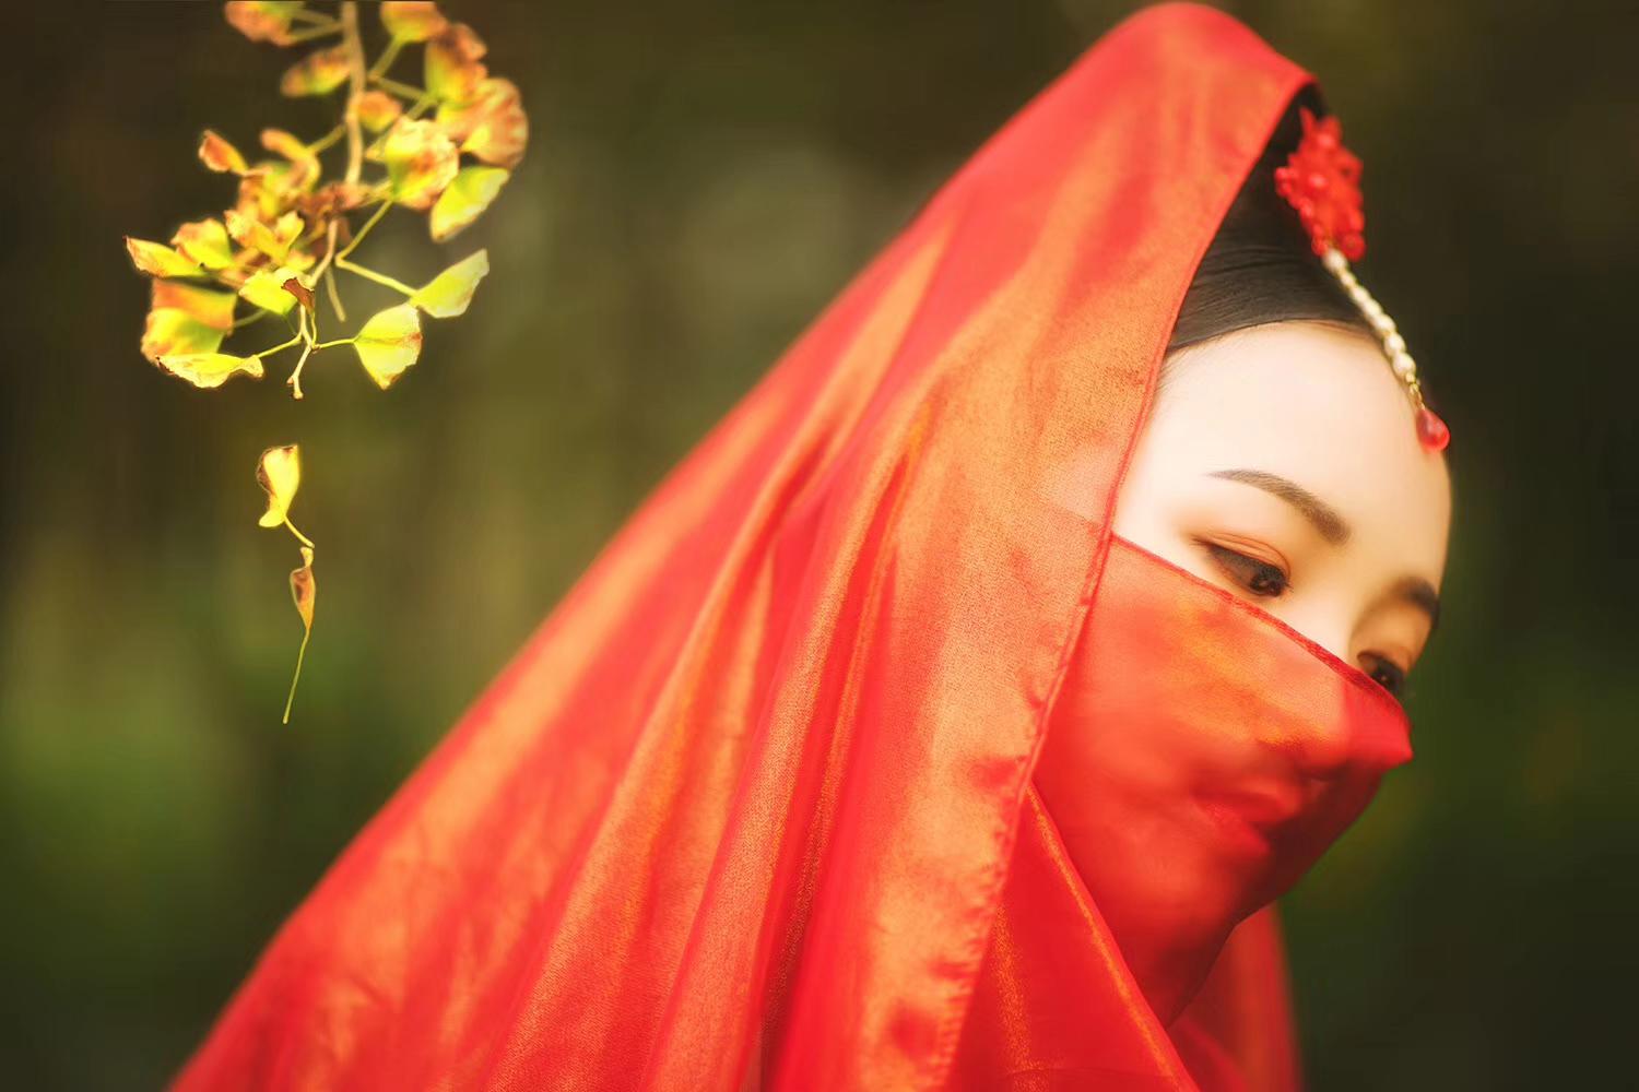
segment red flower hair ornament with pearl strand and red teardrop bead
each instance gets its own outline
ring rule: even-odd
[[[1372,298],[1349,268],[1351,260],[1365,255],[1360,159],[1342,146],[1342,126],[1336,116],[1316,120],[1306,106],[1300,106],[1298,115],[1303,118],[1303,139],[1287,165],[1275,169],[1275,190],[1298,210],[1314,254],[1383,341],[1388,365],[1405,383],[1416,409],[1418,442],[1432,452],[1442,450],[1451,444],[1451,429],[1423,404],[1418,365],[1406,352],[1406,339],[1400,336],[1383,305]]]

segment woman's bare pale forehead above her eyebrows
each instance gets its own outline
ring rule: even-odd
[[[1418,444],[1405,388],[1365,336],[1278,323],[1180,354],[1144,447],[1177,475],[1251,468],[1290,478],[1351,524],[1351,550],[1439,584],[1451,530],[1446,460]]]

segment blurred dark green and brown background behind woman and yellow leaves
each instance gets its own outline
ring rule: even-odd
[[[210,126],[329,128],[216,3],[8,10],[0,467],[0,1084],[161,1085],[346,840],[661,475],[939,180],[1139,7],[447,3],[529,154],[410,280],[487,246],[379,393],[138,355],[123,234],[220,213]],[[1452,424],[1418,758],[1285,900],[1313,1087],[1631,1079],[1639,41],[1634,5],[1246,0],[1367,164],[1364,277]],[[365,11],[365,26],[374,15]],[[365,293],[367,295],[367,293]],[[354,306],[361,306],[356,296]],[[284,362],[284,367],[277,367]],[[300,440],[318,624],[256,457]]]

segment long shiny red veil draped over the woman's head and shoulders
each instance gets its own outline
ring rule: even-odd
[[[175,1087],[1296,1087],[1272,909],[1164,1023],[1033,771],[1090,619],[1252,627],[1303,702],[1373,701],[1110,530],[1308,82],[1196,5],[1093,46],[654,490]]]

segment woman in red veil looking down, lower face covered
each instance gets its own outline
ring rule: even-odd
[[[1328,280],[1331,169],[1260,188],[1298,124],[1336,167],[1305,103],[1203,7],[1090,49],[647,498],[177,1085],[1295,1087],[1269,904],[1410,758],[1449,508],[1405,345]]]

